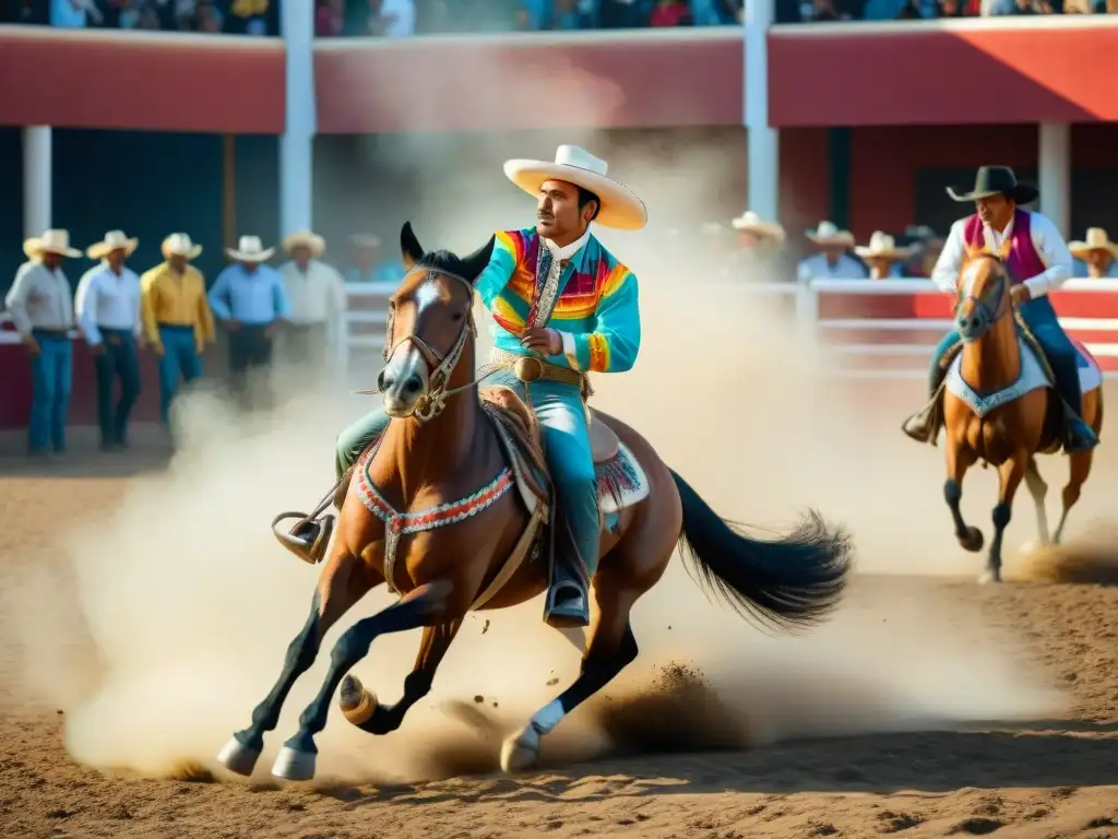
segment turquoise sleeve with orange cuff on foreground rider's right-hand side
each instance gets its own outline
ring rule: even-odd
[[[584,373],[625,373],[641,349],[636,274],[617,264],[606,275],[593,332],[560,332],[567,361]]]

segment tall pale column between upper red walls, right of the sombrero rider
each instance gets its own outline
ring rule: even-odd
[[[768,120],[768,28],[774,0],[746,3],[745,115],[748,134],[749,209],[766,220],[779,218],[780,134]]]

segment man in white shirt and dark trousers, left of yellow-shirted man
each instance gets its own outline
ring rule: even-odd
[[[127,447],[129,415],[140,396],[140,277],[124,265],[138,244],[122,230],[110,230],[102,242],[86,249],[86,255],[100,264],[85,272],[77,284],[77,322],[93,350],[97,374],[102,451]],[[113,386],[117,379],[121,392],[114,407]]]

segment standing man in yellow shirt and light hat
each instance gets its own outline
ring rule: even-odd
[[[206,279],[190,264],[201,245],[184,233],[163,239],[160,263],[140,279],[143,331],[159,356],[159,407],[164,425],[179,383],[202,375],[201,353],[214,342],[214,314],[206,300]]]

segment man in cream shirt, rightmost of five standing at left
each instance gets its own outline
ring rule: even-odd
[[[281,243],[291,257],[280,266],[290,311],[281,352],[287,364],[322,370],[337,355],[345,328],[345,282],[322,262],[326,243],[311,230],[296,230]]]

